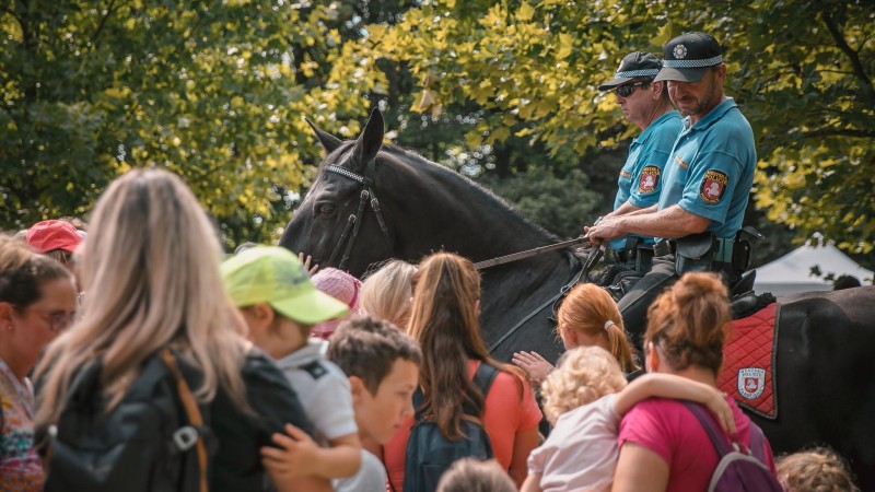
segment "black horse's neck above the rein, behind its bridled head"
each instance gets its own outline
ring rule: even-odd
[[[416,175],[415,179],[396,179],[405,184],[392,190],[394,204],[406,210],[394,219],[399,224],[396,254],[400,257],[418,260],[418,256],[444,249],[480,261],[556,241],[495,196],[450,169],[423,162],[392,171]],[[411,201],[419,204],[410,207]]]

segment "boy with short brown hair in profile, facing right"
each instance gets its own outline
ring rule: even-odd
[[[340,325],[329,339],[327,355],[349,377],[359,437],[374,447],[388,443],[413,414],[422,363],[419,344],[393,324],[362,316]],[[362,449],[361,470],[335,482],[335,490],[385,491],[386,469],[380,458]]]

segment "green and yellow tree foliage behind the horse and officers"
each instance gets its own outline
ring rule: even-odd
[[[726,93],[754,126],[750,216],[777,232],[774,247],[790,227],[797,242],[819,232],[865,255],[875,247],[874,5],[10,0],[0,10],[0,225],[81,215],[119,173],[166,166],[229,245],[269,242],[319,160],[303,117],[353,138],[378,105],[390,140],[576,235],[609,209],[639,131],[597,85],[629,51],[658,52],[698,30],[724,46]]]

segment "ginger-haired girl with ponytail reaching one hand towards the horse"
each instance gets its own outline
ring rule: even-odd
[[[614,297],[593,283],[582,283],[568,293],[557,313],[557,331],[565,350],[600,347],[610,352],[627,375],[640,370],[622,316]],[[535,382],[542,382],[556,367],[537,352],[516,352],[513,363]]]

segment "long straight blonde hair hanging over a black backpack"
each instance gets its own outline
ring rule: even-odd
[[[243,320],[219,274],[217,232],[191,191],[162,169],[136,169],[97,201],[81,258],[83,319],[37,367],[45,377],[37,425],[58,420],[73,375],[103,359],[101,382],[117,405],[145,359],[171,347],[196,365],[200,401],[223,387],[244,409]]]

